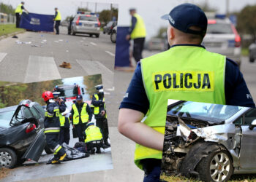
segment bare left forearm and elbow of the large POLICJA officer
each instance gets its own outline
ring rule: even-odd
[[[144,114],[129,108],[121,108],[118,115],[118,131],[140,145],[162,151],[164,135],[140,122]]]

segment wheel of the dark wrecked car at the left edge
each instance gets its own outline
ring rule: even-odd
[[[0,149],[0,165],[1,167],[13,168],[17,162],[15,151],[8,148]]]

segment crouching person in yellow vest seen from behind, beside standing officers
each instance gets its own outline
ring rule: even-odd
[[[86,136],[84,142],[86,143],[87,152],[94,154],[94,147],[96,147],[96,153],[101,153],[100,148],[103,147],[103,137],[99,127],[94,126],[93,122],[89,122],[87,124],[85,134]]]

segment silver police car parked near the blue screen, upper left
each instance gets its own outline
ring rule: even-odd
[[[96,15],[78,14],[75,15],[72,20],[70,33],[75,35],[76,33],[86,33],[89,36],[95,35],[99,37],[100,22]]]

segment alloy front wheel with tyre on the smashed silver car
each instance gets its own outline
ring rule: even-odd
[[[202,181],[228,181],[233,174],[233,162],[227,151],[215,151],[204,157],[197,165]]]

